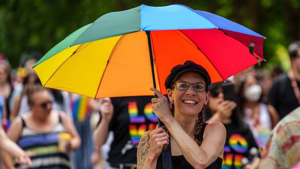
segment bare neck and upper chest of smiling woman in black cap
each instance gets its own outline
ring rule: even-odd
[[[174,119],[179,123],[182,129],[190,136],[194,135],[197,125],[198,115],[182,115],[180,112],[175,112]]]

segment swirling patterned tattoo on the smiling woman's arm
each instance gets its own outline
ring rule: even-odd
[[[150,132],[151,131],[145,132],[140,139],[140,143],[137,148],[137,169],[142,169],[147,159],[147,155],[150,147],[149,144]]]

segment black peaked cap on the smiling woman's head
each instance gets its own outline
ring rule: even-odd
[[[211,78],[204,67],[193,61],[187,60],[183,65],[176,65],[171,69],[170,74],[167,76],[164,82],[166,89],[170,89],[179,75],[183,74],[184,72],[198,72],[205,79],[207,87],[211,84]]]

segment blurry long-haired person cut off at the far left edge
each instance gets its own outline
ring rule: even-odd
[[[10,117],[10,97],[14,88],[11,83],[11,66],[5,58],[0,58],[0,96],[5,99],[6,110],[2,114],[2,124],[7,125],[7,120]]]

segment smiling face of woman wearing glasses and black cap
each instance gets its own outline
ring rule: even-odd
[[[186,72],[181,74],[175,83],[186,82],[186,83],[203,83],[205,84],[204,78],[196,72]],[[178,90],[173,85],[172,89],[167,89],[168,97],[170,101],[174,103],[175,113],[179,112],[184,115],[198,115],[202,110],[203,105],[207,104],[209,99],[209,92],[206,91],[195,91],[193,85],[189,85],[188,90]]]

